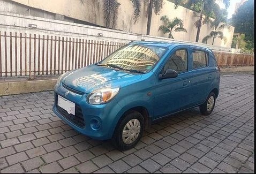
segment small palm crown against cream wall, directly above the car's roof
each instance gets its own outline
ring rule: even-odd
[[[171,32],[172,29],[174,29],[174,32],[187,32],[187,30],[183,27],[183,21],[179,18],[174,18],[173,20],[170,20],[166,15],[162,16],[161,19],[164,23],[164,25],[161,25],[159,27],[159,30],[161,29],[163,31],[163,34],[169,33],[168,38],[174,39],[174,36],[172,36]]]

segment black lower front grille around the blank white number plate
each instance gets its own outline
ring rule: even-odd
[[[85,120],[84,117],[82,116],[82,110],[81,107],[76,104],[76,108],[75,108],[75,115],[69,114],[67,113],[66,110],[62,109],[61,107],[59,107],[58,104],[58,96],[56,94],[56,109],[59,112],[59,114],[61,114],[63,117],[65,117],[66,119],[70,120],[70,122],[72,122],[73,124],[77,125],[80,128],[84,128],[85,127]]]

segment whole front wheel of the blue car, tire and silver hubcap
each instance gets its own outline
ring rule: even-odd
[[[137,111],[129,112],[118,122],[112,142],[119,150],[130,149],[139,142],[143,131],[143,116]]]

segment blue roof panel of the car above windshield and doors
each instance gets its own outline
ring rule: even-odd
[[[129,44],[144,44],[147,46],[158,46],[158,47],[168,47],[168,48],[171,46],[193,46],[193,47],[197,47],[197,48],[206,49],[206,50],[212,52],[212,50],[210,50],[209,48],[200,47],[200,46],[196,46],[194,44],[189,44],[189,43],[161,42],[161,41],[132,41]]]

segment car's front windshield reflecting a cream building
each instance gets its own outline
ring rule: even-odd
[[[161,59],[166,50],[163,47],[130,44],[118,49],[97,65],[121,71],[146,73]]]

